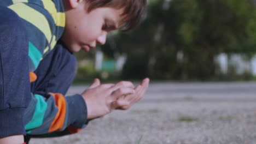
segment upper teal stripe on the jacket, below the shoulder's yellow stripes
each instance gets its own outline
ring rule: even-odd
[[[34,46],[30,41],[28,42],[28,56],[30,56],[32,62],[34,63],[34,67],[37,68],[42,58],[42,53],[38,51],[37,47]]]

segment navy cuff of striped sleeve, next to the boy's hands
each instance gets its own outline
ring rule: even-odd
[[[74,128],[84,128],[88,124],[86,103],[80,94],[66,97],[68,124]]]

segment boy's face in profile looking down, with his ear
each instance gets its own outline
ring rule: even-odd
[[[66,26],[61,40],[72,52],[81,49],[88,52],[96,44],[105,44],[107,33],[120,27],[122,9],[96,8],[88,13],[84,4],[78,3],[66,10]]]

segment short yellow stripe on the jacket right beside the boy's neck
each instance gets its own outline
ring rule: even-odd
[[[44,8],[49,11],[54,19],[55,25],[65,27],[65,13],[57,13],[55,4],[51,0],[43,0]]]

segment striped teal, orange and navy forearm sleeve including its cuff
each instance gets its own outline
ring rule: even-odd
[[[25,130],[30,135],[77,133],[86,126],[86,112],[81,95],[63,97],[60,93],[50,93],[45,98],[36,94],[25,111]]]

